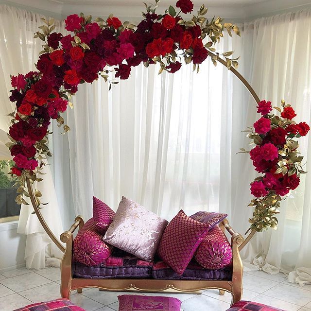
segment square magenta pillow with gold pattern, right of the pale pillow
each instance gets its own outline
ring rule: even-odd
[[[182,275],[209,228],[180,210],[164,230],[157,250],[159,257]]]

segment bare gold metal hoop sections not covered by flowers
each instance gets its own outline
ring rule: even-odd
[[[214,54],[212,52],[208,52],[208,55],[215,58],[219,63],[221,63],[222,65],[224,65],[225,67],[227,67],[227,63],[225,62],[225,60],[223,60],[222,58],[220,58],[217,54]],[[235,68],[233,68],[232,66],[229,68],[229,70],[242,82],[242,84],[247,88],[247,90],[250,92],[250,94],[252,95],[252,97],[254,98],[255,102],[258,104],[260,102],[260,99],[258,97],[258,95],[256,94],[255,90],[252,88],[252,86],[250,86],[250,84],[246,81],[246,79],[242,76],[242,74],[236,70]],[[31,179],[29,179],[28,177],[26,177],[26,184],[27,184],[27,189],[28,189],[28,193],[30,195],[30,200],[32,203],[32,206],[34,207],[35,210],[35,214],[37,215],[40,224],[42,225],[43,229],[45,230],[45,232],[48,234],[48,236],[51,238],[51,240],[54,242],[54,244],[64,253],[65,252],[65,247],[62,245],[62,243],[55,237],[55,235],[53,234],[51,228],[49,227],[49,225],[46,223],[46,221],[43,218],[43,215],[40,212],[40,209],[36,203],[35,200],[35,195],[34,195],[34,190],[33,190],[33,186],[31,183]],[[242,244],[239,246],[239,250],[241,251],[242,248],[244,248],[244,246],[253,238],[253,236],[255,235],[256,230],[252,229],[247,237],[244,239],[244,241],[242,242]]]

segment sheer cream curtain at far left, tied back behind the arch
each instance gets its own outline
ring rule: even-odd
[[[42,25],[41,16],[25,10],[7,5],[0,5],[0,157],[11,158],[5,143],[6,133],[10,126],[10,117],[5,114],[14,110],[14,105],[9,101],[11,87],[10,74],[26,73],[35,70],[35,62],[41,51],[41,42],[34,39],[34,33]],[[58,29],[60,22],[57,23]],[[55,195],[52,174],[46,168],[44,181],[38,184],[44,202],[49,202],[42,209],[46,221],[59,237],[62,221]],[[25,260],[28,268],[44,268],[45,255],[48,257],[61,257],[61,252],[54,246],[47,234],[43,231],[37,218],[32,213],[32,208],[21,207],[18,223],[18,233],[27,235]]]

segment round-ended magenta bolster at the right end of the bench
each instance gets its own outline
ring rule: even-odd
[[[216,270],[227,266],[232,259],[231,245],[219,226],[213,227],[194,254],[205,269]]]

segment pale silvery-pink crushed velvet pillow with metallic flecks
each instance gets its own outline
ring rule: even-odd
[[[136,257],[152,261],[168,221],[122,197],[104,241]]]

